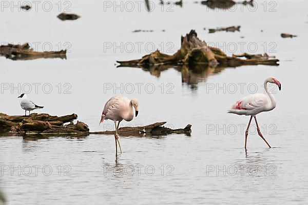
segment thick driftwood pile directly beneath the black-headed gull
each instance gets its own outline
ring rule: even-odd
[[[11,131],[15,133],[40,133],[40,134],[80,134],[88,132],[89,128],[84,122],[77,121],[73,124],[73,120],[77,119],[76,114],[65,116],[51,116],[49,114],[31,115],[6,115],[0,113],[0,129],[2,131]],[[64,125],[69,122],[68,125]]]

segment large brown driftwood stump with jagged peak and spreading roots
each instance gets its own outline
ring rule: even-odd
[[[218,48],[208,47],[197,37],[195,30],[191,30],[181,37],[181,48],[174,55],[167,55],[158,50],[143,56],[141,59],[129,61],[117,61],[120,67],[151,67],[159,65],[189,65],[202,64],[215,68],[218,65],[224,67],[237,67],[243,65],[271,65],[277,66],[278,59],[249,58],[242,59],[236,56],[227,56]]]

